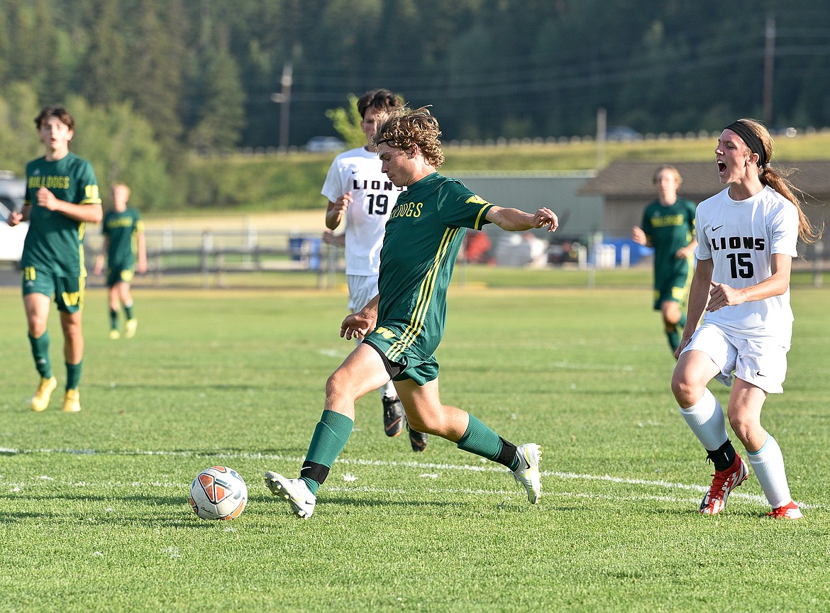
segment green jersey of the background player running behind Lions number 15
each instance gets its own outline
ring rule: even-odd
[[[654,248],[654,287],[686,285],[691,257],[678,259],[677,251],[695,236],[696,206],[690,200],[676,199],[664,207],[652,202],[642,214],[642,231]]]

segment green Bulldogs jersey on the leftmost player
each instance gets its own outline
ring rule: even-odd
[[[32,208],[23,243],[22,267],[50,270],[58,277],[85,277],[85,224],[38,205],[37,190],[41,187],[65,202],[100,204],[92,164],[69,153],[56,162],[38,158],[26,165],[26,204]]]

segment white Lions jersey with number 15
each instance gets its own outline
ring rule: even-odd
[[[712,281],[740,289],[772,276],[773,253],[798,255],[798,211],[769,186],[745,200],[729,189],[697,206],[698,259],[711,259]],[[789,345],[793,311],[789,287],[781,296],[706,312],[709,321],[740,338],[778,338]]]

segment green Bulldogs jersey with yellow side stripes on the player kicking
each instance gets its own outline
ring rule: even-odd
[[[386,223],[378,277],[378,325],[403,330],[389,359],[405,350],[432,356],[444,334],[447,287],[466,228],[481,230],[492,206],[461,181],[437,173],[398,196]]]

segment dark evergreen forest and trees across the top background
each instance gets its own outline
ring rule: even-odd
[[[173,204],[190,152],[334,134],[326,111],[378,86],[452,140],[593,134],[599,108],[640,132],[830,125],[821,4],[0,0],[0,167],[37,154],[40,105],[70,101],[106,178],[139,164]]]

